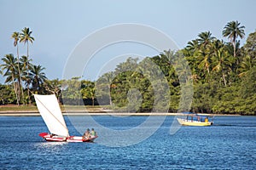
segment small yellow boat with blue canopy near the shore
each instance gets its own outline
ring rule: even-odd
[[[177,118],[183,126],[211,126],[213,120],[209,121],[209,116],[201,116],[197,114],[188,114],[186,118]]]

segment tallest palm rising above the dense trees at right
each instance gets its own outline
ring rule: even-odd
[[[243,38],[245,36],[245,26],[240,26],[240,24],[241,23],[239,23],[237,20],[230,21],[226,26],[224,26],[224,31],[222,31],[222,35],[230,38],[230,42],[233,44],[234,57],[236,57],[236,38]]]

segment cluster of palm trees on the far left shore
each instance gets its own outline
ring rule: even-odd
[[[29,43],[34,41],[32,31],[29,28],[25,27],[21,32],[15,31],[11,37],[14,39],[16,57],[14,54],[6,54],[2,58],[3,64],[0,66],[3,77],[6,77],[5,83],[12,84],[12,90],[9,90],[9,85],[1,85],[4,92],[1,97],[2,104],[14,102],[17,105],[31,104],[30,87],[32,86],[32,89],[36,91],[40,83],[47,79],[43,72],[44,67],[42,65],[33,65],[32,59],[29,59]],[[19,53],[20,42],[26,44],[26,55],[21,57]]]

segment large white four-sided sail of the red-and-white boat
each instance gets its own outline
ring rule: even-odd
[[[34,94],[38,111],[44,119],[50,133],[58,136],[68,137],[68,130],[64,118],[61,113],[61,108],[55,94],[38,95]]]

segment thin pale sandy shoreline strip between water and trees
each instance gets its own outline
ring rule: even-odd
[[[183,113],[127,113],[111,111],[62,111],[63,116],[186,116]],[[235,114],[199,114],[201,116],[241,116]],[[0,111],[0,116],[40,116],[38,111]]]

